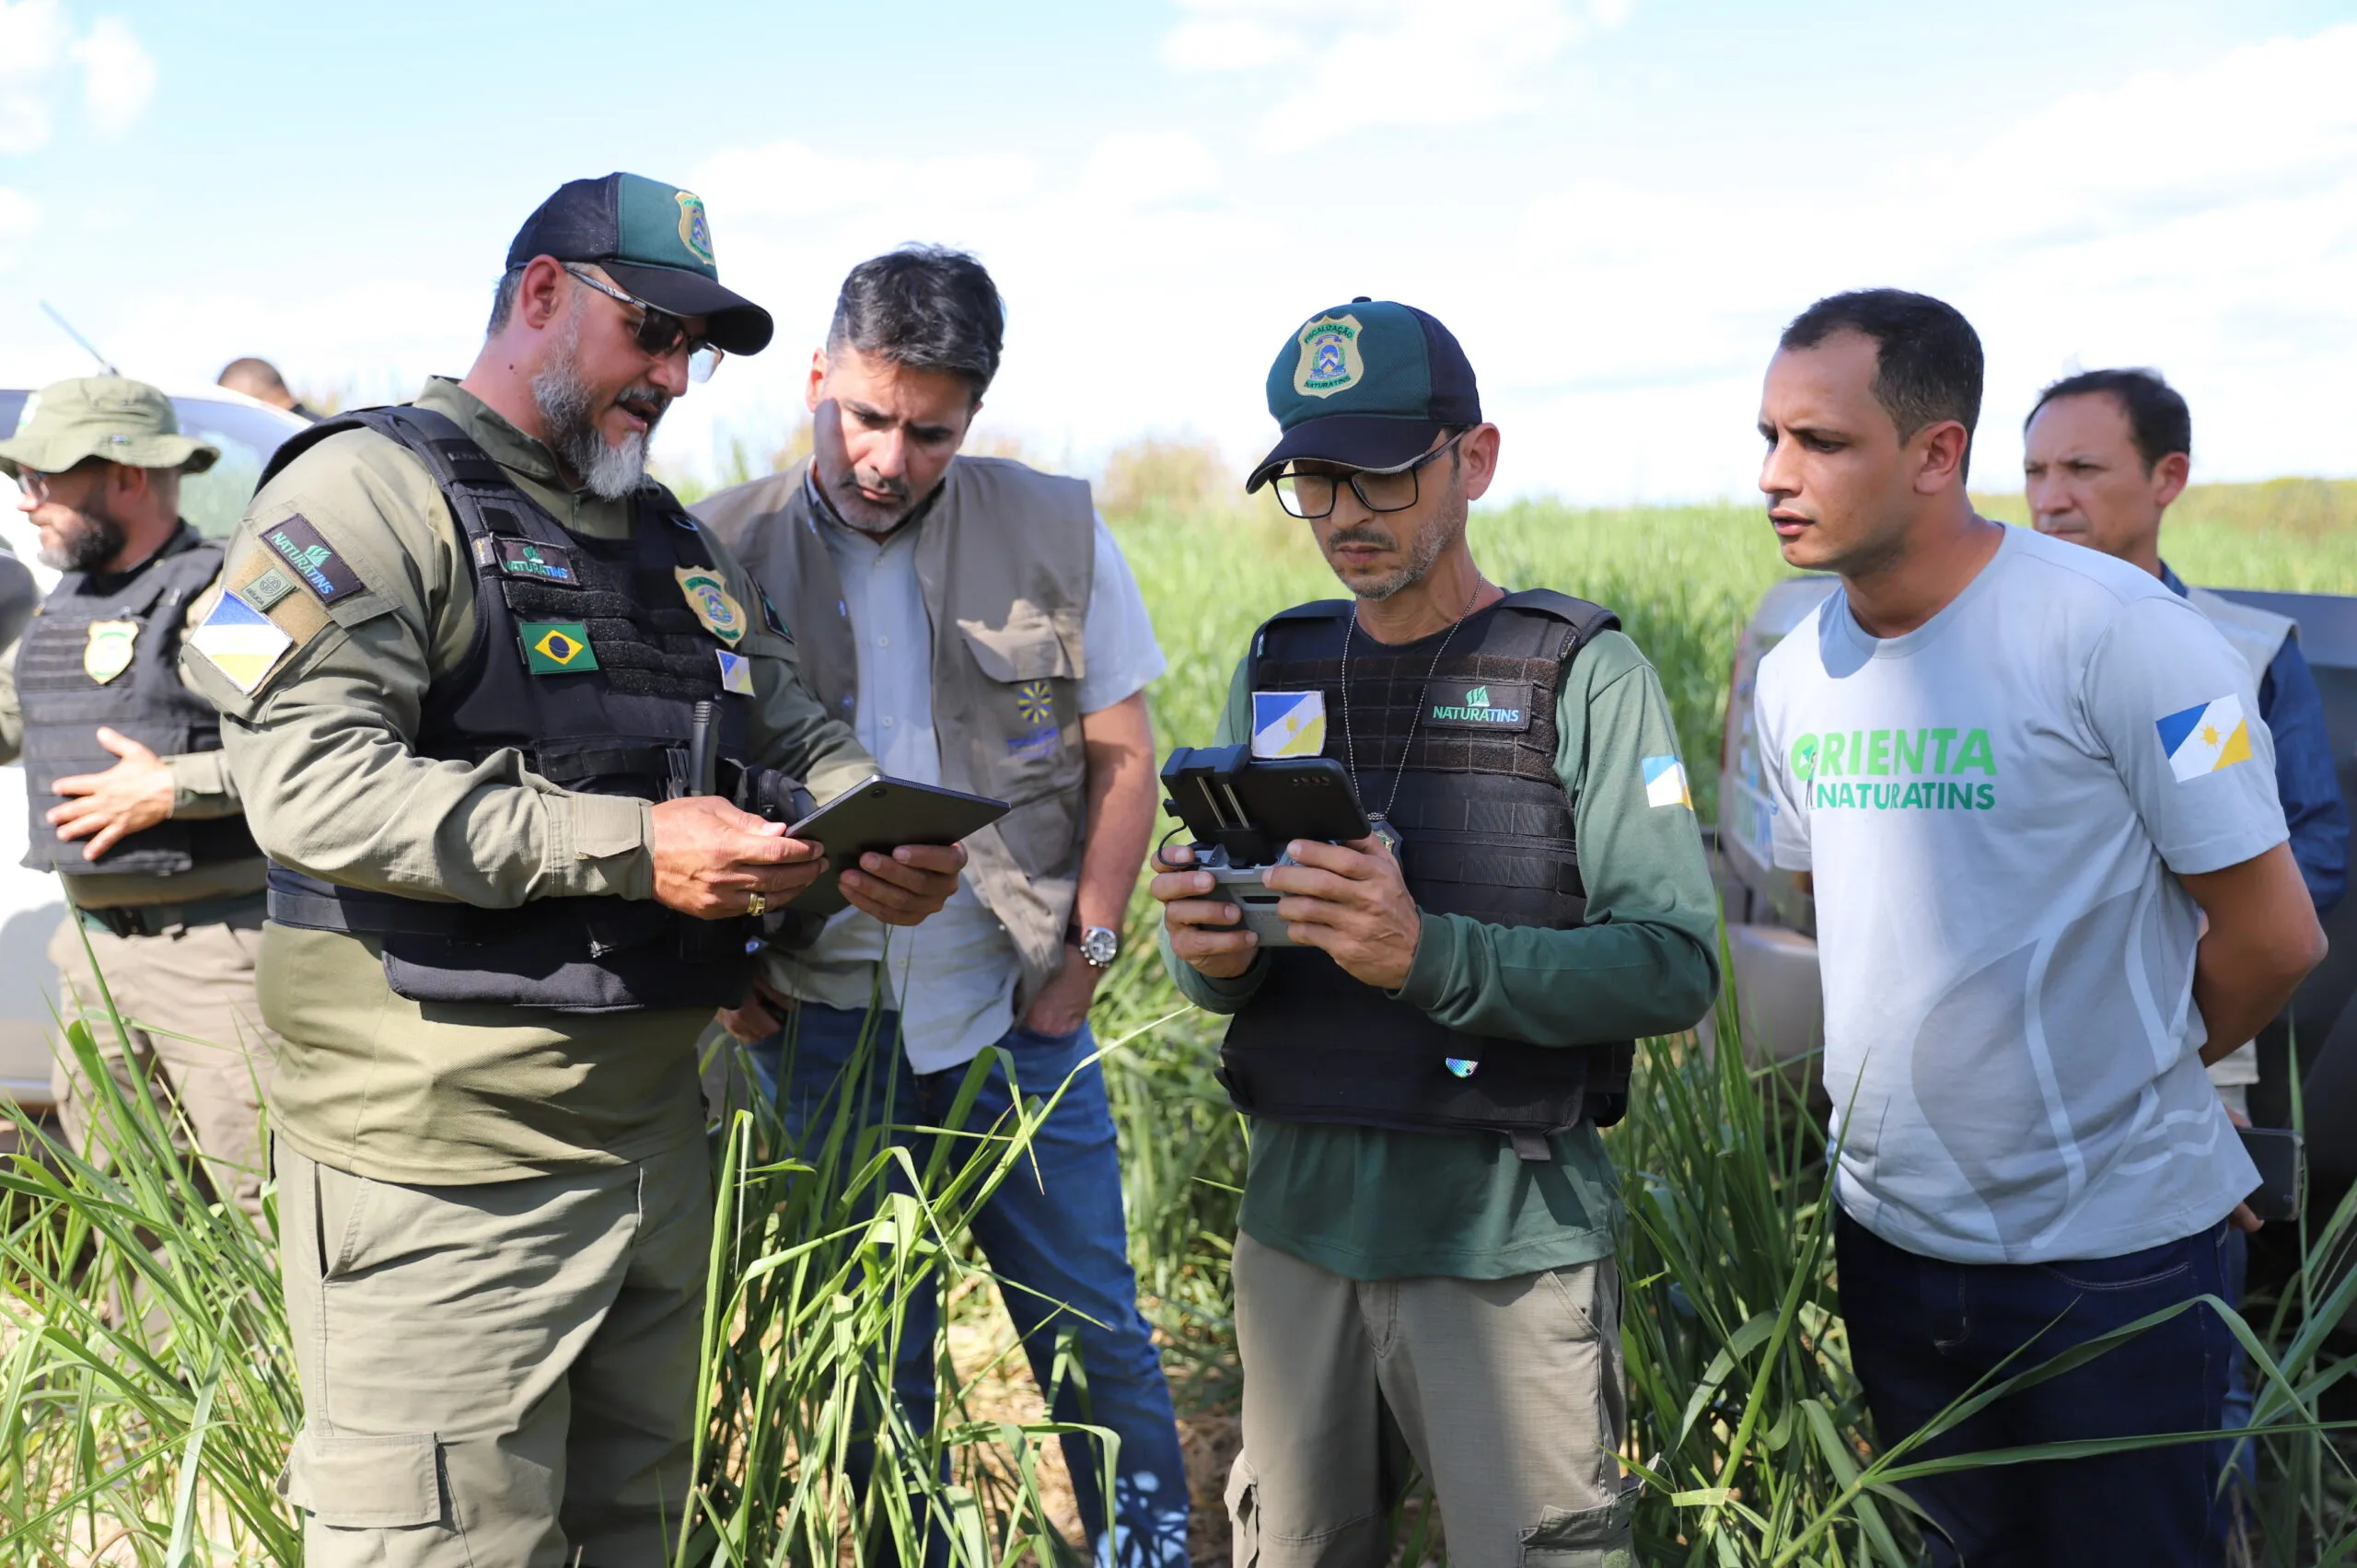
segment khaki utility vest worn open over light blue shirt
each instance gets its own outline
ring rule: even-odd
[[[808,460],[691,507],[768,592],[827,712],[856,719],[858,648],[834,556],[818,538]],[[832,526],[832,523],[830,523]],[[933,622],[940,783],[1014,809],[966,839],[966,879],[1023,960],[1016,1016],[1063,962],[1087,830],[1080,632],[1096,578],[1082,479],[957,457],[917,535]]]

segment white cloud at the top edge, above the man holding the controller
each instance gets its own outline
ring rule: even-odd
[[[1160,54],[1261,78],[1263,137],[1301,149],[1372,125],[1471,125],[1537,106],[1551,66],[1631,0],[1181,0]]]

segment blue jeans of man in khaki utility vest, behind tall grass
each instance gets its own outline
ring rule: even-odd
[[[910,1148],[917,1170],[924,1170],[931,1137],[915,1127],[948,1127],[966,1068],[910,1070],[900,1052],[900,1016],[884,1012],[877,1014],[865,1082],[839,1087],[865,1026],[867,1014],[804,1002],[797,1021],[787,1023],[790,1059],[787,1035],[768,1035],[745,1049],[761,1092],[778,1103],[797,1144],[813,1118],[834,1115],[849,1101],[870,1122],[896,1122],[900,1132],[893,1141]],[[973,1214],[973,1240],[1006,1285],[1006,1316],[1023,1337],[1032,1377],[1039,1389],[1054,1389],[1051,1417],[1091,1422],[1122,1438],[1110,1540],[1096,1443],[1087,1436],[1063,1438],[1065,1469],[1072,1474],[1096,1561],[1120,1568],[1186,1568],[1186,1460],[1178,1452],[1162,1356],[1138,1313],[1113,1108],[1105,1103],[1103,1068],[1094,1061],[1080,1066],[1096,1052],[1096,1042],[1087,1026],[1056,1037],[1016,1026],[999,1040],[999,1052],[1014,1059],[1023,1094],[1054,1094],[1065,1078],[1072,1085],[1047,1115],[1023,1165]],[[1011,1103],[1006,1061],[999,1059],[990,1066],[966,1127],[988,1129]],[[910,1302],[903,1316],[893,1389],[917,1429],[933,1424],[938,1318],[940,1297],[933,1290]],[[1087,1389],[1075,1379],[1061,1386],[1054,1379],[1056,1337],[1065,1327],[1080,1342]]]

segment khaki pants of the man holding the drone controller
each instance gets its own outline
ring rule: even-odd
[[[1506,1280],[1351,1280],[1240,1233],[1235,1344],[1235,1568],[1379,1568],[1409,1457],[1452,1568],[1636,1561],[1610,1257]]]

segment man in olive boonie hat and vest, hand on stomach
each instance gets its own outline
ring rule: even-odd
[[[214,457],[141,382],[92,375],[33,394],[0,469],[24,493],[42,564],[66,575],[0,651],[0,762],[26,764],[24,863],[66,889],[49,941],[64,1014],[90,1021],[125,1089],[137,1092],[137,1061],[167,1118],[177,1101],[212,1191],[259,1217],[276,1049],[255,1007],[262,851],[222,759],[222,719],[179,679],[189,606],[222,575],[222,547],[179,516],[179,476]],[[61,1049],[52,1075],[68,1141],[90,1148],[80,1063]],[[104,1139],[90,1153],[104,1158]]]

